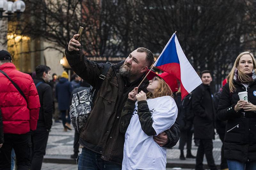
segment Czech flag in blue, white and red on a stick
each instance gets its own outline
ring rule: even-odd
[[[183,53],[175,33],[172,34],[153,66],[180,80],[181,100],[202,84],[201,78]]]

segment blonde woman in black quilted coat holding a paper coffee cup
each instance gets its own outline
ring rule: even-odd
[[[227,120],[224,156],[229,170],[256,169],[256,61],[250,52],[236,58],[223,87],[218,117]],[[246,91],[248,101],[238,93]]]

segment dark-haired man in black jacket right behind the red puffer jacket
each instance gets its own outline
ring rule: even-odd
[[[36,78],[34,83],[39,95],[40,109],[37,128],[31,134],[32,162],[31,170],[41,169],[45,155],[46,144],[49,131],[52,127],[52,88],[49,83],[51,78],[51,69],[46,65],[36,67]]]

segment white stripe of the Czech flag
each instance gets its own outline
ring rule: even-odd
[[[174,41],[176,44],[176,50],[180,61],[181,82],[184,88],[187,90],[187,92],[190,93],[203,82],[196,73],[196,71],[194,70],[194,68],[192,67],[192,65],[189,63],[186,55],[184,54],[182,48],[180,47],[180,43],[177,39],[177,36],[175,36]]]

